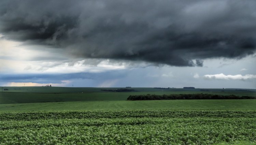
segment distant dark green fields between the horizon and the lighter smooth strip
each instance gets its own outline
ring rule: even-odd
[[[125,101],[129,95],[141,94],[192,94],[208,93],[221,95],[256,96],[255,90],[236,89],[154,89],[131,88],[134,92],[106,92],[101,89],[118,88],[66,88],[66,87],[3,87],[0,104],[45,103],[71,101]]]

